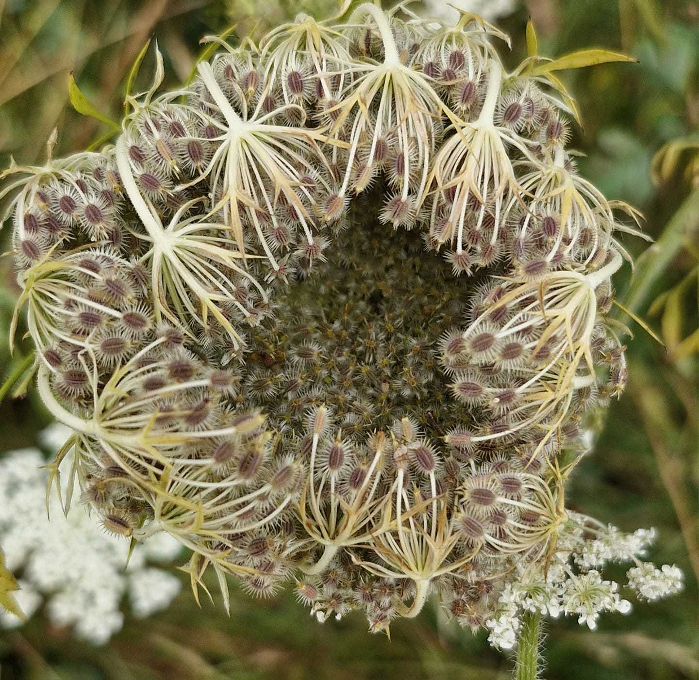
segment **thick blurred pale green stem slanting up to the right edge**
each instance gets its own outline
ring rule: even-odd
[[[634,313],[644,312],[648,295],[658,278],[675,259],[687,242],[692,242],[699,230],[699,189],[687,196],[677,212],[672,216],[660,238],[649,246],[636,261],[633,278],[626,292],[624,306]],[[628,321],[626,313],[619,318]]]

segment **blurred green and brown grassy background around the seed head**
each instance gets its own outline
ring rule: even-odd
[[[438,0],[440,1],[440,0]],[[489,3],[482,5],[488,7]],[[59,129],[57,154],[84,148],[104,130],[68,103],[74,71],[96,106],[118,118],[123,82],[151,35],[166,58],[168,81],[185,80],[199,38],[237,23],[259,36],[299,10],[317,15],[332,0],[0,0],[0,166],[40,163]],[[584,129],[572,146],[586,156],[584,176],[610,199],[644,213],[644,230],[624,245],[637,256],[617,279],[619,300],[659,334],[665,348],[630,322],[626,393],[593,423],[598,441],[571,482],[573,508],[626,531],[655,526],[651,559],[677,563],[684,593],[629,616],[606,616],[591,633],[575,619],[549,624],[550,680],[672,680],[699,677],[699,3],[693,0],[528,0],[498,20],[513,38],[514,66],[525,54],[528,15],[540,53],[582,47],[623,50],[638,64],[608,64],[565,74]],[[259,25],[257,25],[259,22]],[[146,66],[149,61],[145,61]],[[147,68],[142,69],[147,79]],[[656,154],[659,155],[656,156]],[[654,161],[655,158],[655,161]],[[6,244],[8,230],[2,232]],[[643,254],[642,254],[643,253]],[[17,297],[9,258],[0,262],[0,363],[10,374],[7,328]],[[616,318],[626,314],[617,309]],[[628,318],[626,318],[628,322]],[[31,445],[48,423],[36,394],[0,406],[0,451]],[[624,568],[617,576],[622,578]],[[614,574],[611,574],[612,576]],[[485,635],[447,625],[436,609],[391,626],[391,641],[366,633],[361,616],[323,626],[291,596],[234,596],[231,616],[188,588],[167,612],[127,616],[107,646],[76,642],[37,614],[0,633],[0,677],[15,679],[490,679],[510,677],[512,661]]]

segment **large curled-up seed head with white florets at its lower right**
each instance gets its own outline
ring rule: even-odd
[[[341,18],[215,39],[166,94],[158,54],[115,145],[8,170],[17,311],[75,431],[54,476],[72,449],[106,529],[171,533],[195,591],[291,581],[375,632],[430,593],[499,646],[532,607],[592,625],[627,608],[609,559],[677,590],[650,535],[565,510],[585,414],[624,389],[635,232],[577,175],[570,99],[474,15]]]

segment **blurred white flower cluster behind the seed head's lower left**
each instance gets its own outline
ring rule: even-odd
[[[52,426],[42,438],[58,446],[66,434],[65,427]],[[154,536],[136,547],[124,570],[129,545],[103,531],[85,508],[75,505],[64,517],[58,496],[51,496],[49,521],[43,464],[36,449],[0,459],[0,542],[8,567],[22,571],[17,600],[24,612],[31,616],[43,602],[51,621],[103,644],[122,628],[124,596],[140,618],[168,607],[180,591],[180,579],[148,563],[171,563],[180,552],[178,542],[166,534]],[[71,484],[66,480],[63,494]],[[20,623],[12,614],[0,614],[0,628]]]

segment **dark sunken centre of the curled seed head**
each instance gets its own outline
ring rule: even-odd
[[[306,279],[275,292],[275,316],[252,333],[240,401],[272,427],[301,431],[325,404],[347,435],[411,416],[426,434],[470,420],[442,369],[445,332],[463,329],[473,279],[456,277],[421,232],[379,223],[356,200],[349,225]]]

